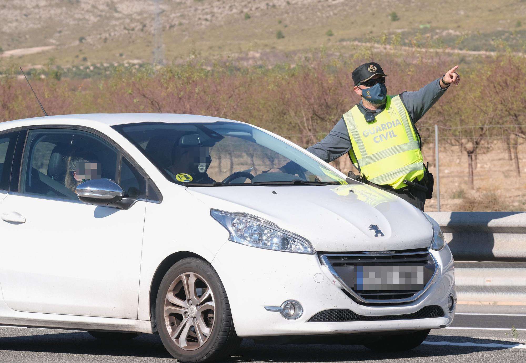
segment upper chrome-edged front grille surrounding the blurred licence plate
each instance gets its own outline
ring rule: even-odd
[[[425,291],[436,271],[436,264],[427,248],[388,253],[321,253],[320,258],[343,285],[347,295],[359,304],[392,304],[412,301]],[[422,266],[423,284],[416,289],[363,289],[364,285],[356,281],[357,273],[363,269],[362,266]],[[401,285],[391,286],[394,288]]]

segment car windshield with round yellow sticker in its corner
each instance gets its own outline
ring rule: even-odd
[[[347,184],[327,165],[244,123],[145,122],[114,128],[177,184]]]

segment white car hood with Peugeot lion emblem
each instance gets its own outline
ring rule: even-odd
[[[316,251],[429,247],[432,226],[412,205],[370,185],[187,188],[211,209],[244,212],[307,238]]]

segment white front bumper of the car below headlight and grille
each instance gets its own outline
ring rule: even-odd
[[[317,255],[268,251],[227,241],[212,265],[225,286],[240,337],[371,333],[437,329],[452,323],[454,310],[452,313],[448,310],[448,297],[450,294],[457,297],[453,257],[448,247],[440,252],[431,250],[431,253],[437,262],[437,274],[427,291],[409,303],[381,306],[354,302],[341,291],[342,286],[320,264]],[[290,299],[304,308],[296,320],[287,320],[265,309]],[[336,323],[308,321],[329,309],[350,309],[362,316],[391,316],[417,313],[427,306],[440,306],[444,316]]]

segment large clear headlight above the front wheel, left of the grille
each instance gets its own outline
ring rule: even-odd
[[[280,229],[276,224],[247,213],[210,210],[210,215],[222,224],[232,242],[266,250],[313,254],[314,248],[305,238]]]

